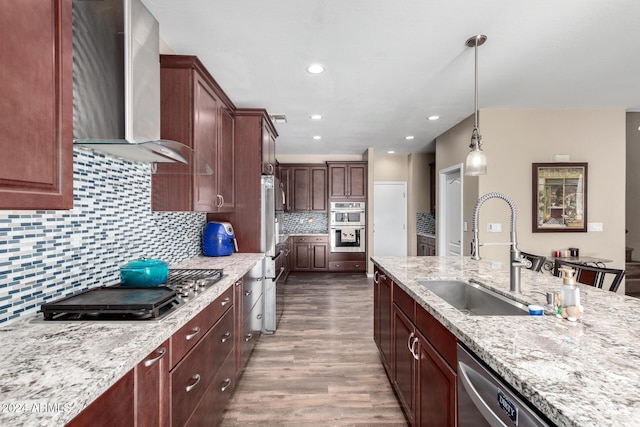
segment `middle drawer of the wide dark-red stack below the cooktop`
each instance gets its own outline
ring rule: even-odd
[[[172,425],[186,423],[230,354],[233,354],[233,310],[227,311],[171,371]]]

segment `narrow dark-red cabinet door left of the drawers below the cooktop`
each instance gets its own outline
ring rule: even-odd
[[[136,426],[157,427],[169,422],[169,341],[135,367]]]

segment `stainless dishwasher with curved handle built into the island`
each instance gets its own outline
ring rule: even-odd
[[[458,344],[458,425],[552,426]]]

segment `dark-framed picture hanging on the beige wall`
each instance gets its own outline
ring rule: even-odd
[[[587,163],[532,164],[532,232],[587,231]]]

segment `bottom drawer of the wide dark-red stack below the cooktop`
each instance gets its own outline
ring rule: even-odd
[[[210,427],[218,425],[224,408],[235,388],[235,363],[229,356],[207,388],[202,400],[189,418],[186,427]]]

